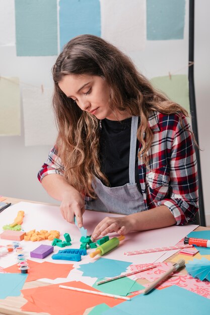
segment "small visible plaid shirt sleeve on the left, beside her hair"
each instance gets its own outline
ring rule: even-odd
[[[42,181],[42,179],[49,174],[59,174],[63,175],[64,167],[62,166],[61,160],[57,155],[56,147],[54,146],[48,155],[48,160],[42,165],[41,170],[39,171],[37,177],[38,180]]]

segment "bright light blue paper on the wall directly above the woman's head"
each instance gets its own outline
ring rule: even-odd
[[[80,34],[101,35],[99,0],[60,0],[59,6],[60,50]]]

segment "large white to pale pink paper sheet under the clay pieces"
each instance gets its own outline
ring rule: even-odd
[[[72,238],[71,248],[80,248],[80,238],[81,234],[76,225],[68,223],[65,221],[60,213],[59,207],[49,206],[44,204],[36,204],[29,202],[20,202],[9,208],[5,209],[0,213],[1,226],[10,224],[14,221],[15,217],[19,210],[25,211],[25,216],[22,224],[22,228],[25,231],[31,229],[46,229],[46,230],[59,230],[60,238],[64,240],[63,233],[69,233]],[[84,213],[84,227],[88,230],[88,235],[93,232],[94,227],[97,223],[102,220],[106,213],[102,212],[92,212],[86,211]],[[110,214],[110,216],[116,216]],[[145,264],[145,263],[154,263],[158,259],[162,259],[164,252],[159,253],[150,253],[143,255],[133,255],[125,256],[123,252],[149,249],[152,247],[162,247],[162,246],[173,246],[177,244],[183,237],[185,237],[190,231],[192,231],[196,225],[186,225],[186,226],[170,226],[150,231],[144,232],[134,232],[126,235],[125,240],[120,242],[120,245],[113,251],[107,253],[103,258],[122,260],[127,262],[132,262],[133,264]],[[3,230],[2,230],[3,231]],[[116,237],[115,233],[110,234],[110,237]],[[10,244],[11,241],[0,239],[0,245]],[[42,242],[31,242],[31,241],[21,241],[21,246],[24,247],[26,256],[30,258],[30,251],[34,250],[41,244],[50,245],[51,241],[45,240]],[[58,252],[60,248],[54,247],[54,254]],[[88,262],[93,262],[95,259],[100,258],[100,256],[95,257],[94,259],[90,258],[89,254],[95,251],[94,249],[88,249],[88,255],[82,256],[81,262],[76,262],[75,267],[79,267],[81,264],[87,264]],[[51,254],[52,255],[52,254]],[[55,261],[51,259],[51,255],[46,257],[43,261],[49,261],[53,263],[64,263],[66,261]],[[171,253],[172,255],[172,253]],[[40,259],[32,259],[34,261],[40,262]],[[164,260],[164,259],[163,259]],[[161,260],[161,261],[163,261]],[[1,266],[8,267],[17,262],[16,256],[14,253],[10,253],[5,257],[1,258]],[[73,262],[69,262],[73,263]],[[75,270],[75,272],[78,272]]]

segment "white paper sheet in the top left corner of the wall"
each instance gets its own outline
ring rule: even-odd
[[[15,0],[0,0],[0,46],[15,45]]]

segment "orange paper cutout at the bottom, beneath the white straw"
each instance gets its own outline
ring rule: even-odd
[[[73,286],[81,289],[98,291],[95,288],[80,281],[65,282],[63,285]],[[89,308],[101,303],[106,303],[110,307],[122,303],[123,300],[108,296],[94,295],[91,293],[78,292],[59,288],[59,284],[52,284],[33,289],[21,290],[24,298],[33,300],[38,309],[51,315],[80,315]],[[31,311],[30,303],[24,304],[21,309]],[[33,309],[35,309],[33,307]]]

